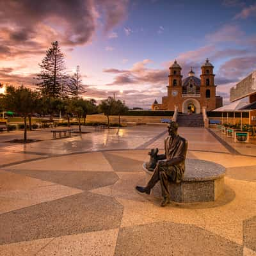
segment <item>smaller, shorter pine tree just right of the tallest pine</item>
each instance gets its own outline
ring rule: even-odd
[[[68,83],[68,95],[74,99],[78,99],[83,93],[87,91],[82,84],[80,68],[79,66],[76,67],[76,73],[70,77],[70,81]]]

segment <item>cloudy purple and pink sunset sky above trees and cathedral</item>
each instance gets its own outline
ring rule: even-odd
[[[166,96],[168,67],[183,77],[209,58],[217,93],[256,70],[256,1],[0,0],[0,83],[35,88],[58,40],[67,72],[80,66],[86,98],[149,109]]]

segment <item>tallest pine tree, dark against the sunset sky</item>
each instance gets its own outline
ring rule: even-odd
[[[37,83],[42,95],[59,98],[65,93],[67,76],[65,75],[64,54],[61,52],[58,41],[52,42],[51,48],[40,64],[41,72],[37,74]]]

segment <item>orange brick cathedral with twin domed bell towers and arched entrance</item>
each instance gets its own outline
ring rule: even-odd
[[[222,106],[222,97],[216,96],[213,66],[207,59],[201,67],[200,78],[195,76],[192,67],[188,77],[182,79],[182,68],[175,60],[169,68],[169,85],[167,96],[163,97],[162,104],[155,100],[152,110],[171,110],[177,106],[182,113],[202,113],[202,108],[211,111]]]

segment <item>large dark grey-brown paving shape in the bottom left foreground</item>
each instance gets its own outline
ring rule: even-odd
[[[0,215],[0,244],[118,228],[122,205],[106,196],[80,193]]]

